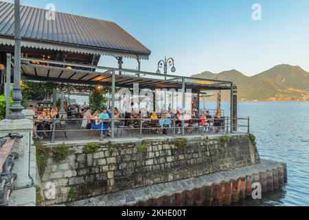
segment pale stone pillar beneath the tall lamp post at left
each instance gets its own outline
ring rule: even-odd
[[[34,184],[34,181],[30,178],[30,144],[32,129],[33,122],[29,119],[0,121],[0,136],[8,135],[8,133],[23,135],[21,140],[16,139],[12,148],[12,153],[19,154],[19,159],[16,159],[13,169],[13,173],[16,173],[18,176],[14,184],[16,188],[25,188]]]

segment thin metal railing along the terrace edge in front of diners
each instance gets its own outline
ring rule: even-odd
[[[236,131],[249,133],[249,118],[237,118],[236,121],[238,123],[231,127],[231,118],[229,117],[211,118],[210,120],[179,120],[176,118],[93,119],[91,124],[88,124],[86,119],[53,119],[35,122],[38,129],[36,129],[34,137],[38,135],[41,137],[41,140],[48,140],[54,143],[56,140],[89,140],[93,137],[98,140],[104,140],[123,137],[143,138],[156,135],[172,137],[184,135],[227,135]]]

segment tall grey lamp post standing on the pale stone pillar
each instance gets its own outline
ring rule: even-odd
[[[23,96],[21,95],[21,7],[19,0],[14,0],[14,88],[13,88],[13,105],[10,108],[12,113],[8,115],[10,120],[24,119],[25,115],[21,113],[23,107],[21,101]]]

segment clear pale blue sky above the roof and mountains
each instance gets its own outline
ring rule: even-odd
[[[11,1],[12,2],[12,1]],[[21,0],[21,4],[115,21],[151,51],[141,68],[155,72],[165,55],[175,59],[176,74],[237,69],[248,76],[275,65],[309,71],[308,0]],[[253,3],[262,21],[253,21]],[[102,65],[116,65],[104,57]],[[136,68],[126,59],[124,67]]]

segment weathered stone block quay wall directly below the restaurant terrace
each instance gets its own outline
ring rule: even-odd
[[[95,142],[100,147],[91,154],[84,153],[87,143],[67,144],[75,153],[58,163],[52,155],[48,159],[41,186],[43,190],[55,186],[56,197],[45,198],[45,203],[65,203],[260,164],[249,135],[226,137],[186,137],[183,147],[175,144],[177,138],[167,137]]]

